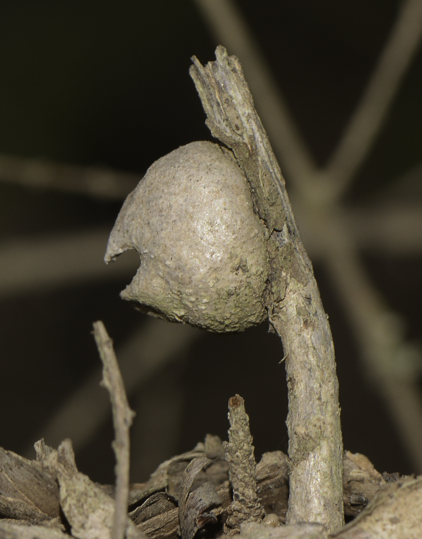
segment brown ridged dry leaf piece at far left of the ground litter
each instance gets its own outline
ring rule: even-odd
[[[0,448],[0,515],[32,524],[59,517],[55,476],[38,462]]]

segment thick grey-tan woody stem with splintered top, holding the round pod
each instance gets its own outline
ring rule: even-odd
[[[269,232],[268,315],[283,341],[289,388],[287,523],[321,522],[333,531],[342,526],[344,517],[338,381],[330,326],[280,167],[241,65],[221,46],[216,58],[204,67],[194,57],[190,74],[208,116],[206,125],[233,150]]]

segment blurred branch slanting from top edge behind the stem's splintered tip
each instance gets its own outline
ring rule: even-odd
[[[292,182],[296,178],[313,177],[317,172],[316,164],[252,31],[235,3],[232,0],[195,0],[195,3],[215,36],[216,45],[224,45],[228,53],[239,58],[271,146],[282,163],[284,175]]]

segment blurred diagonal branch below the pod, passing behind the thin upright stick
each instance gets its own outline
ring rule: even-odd
[[[127,395],[131,396],[202,335],[201,330],[188,325],[148,319],[119,349],[120,370]],[[101,369],[98,368],[53,414],[40,430],[39,438],[45,438],[46,443],[52,446],[71,438],[75,452],[81,451],[110,413],[108,399],[98,385],[100,380]],[[25,454],[32,458],[33,447],[28,447]]]

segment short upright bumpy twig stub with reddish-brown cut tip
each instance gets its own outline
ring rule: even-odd
[[[256,495],[256,462],[249,431],[245,401],[239,395],[228,400],[228,442],[224,443],[228,476],[233,487],[233,502],[228,509],[224,531],[238,533],[241,522],[262,522],[264,509]]]

